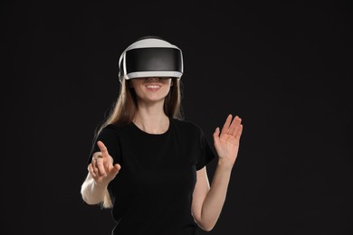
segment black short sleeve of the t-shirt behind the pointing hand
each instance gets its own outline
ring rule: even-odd
[[[119,137],[116,133],[114,127],[107,126],[100,130],[100,133],[95,136],[91,152],[88,159],[88,164],[91,163],[91,157],[95,152],[100,152],[100,147],[97,145],[97,142],[101,141],[107,147],[109,154],[114,159],[114,162],[120,163],[120,147],[119,147]]]

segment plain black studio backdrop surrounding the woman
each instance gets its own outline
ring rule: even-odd
[[[182,49],[185,116],[210,142],[243,118],[224,210],[200,234],[353,233],[351,5],[229,2],[1,3],[1,234],[110,234],[80,187],[119,54],[151,34]]]

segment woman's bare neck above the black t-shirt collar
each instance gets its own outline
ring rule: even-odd
[[[163,134],[169,127],[169,118],[163,111],[163,104],[154,106],[138,105],[134,124],[149,134]]]

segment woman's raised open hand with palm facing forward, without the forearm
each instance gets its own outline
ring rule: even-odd
[[[220,130],[219,127],[215,129],[214,143],[215,151],[220,161],[225,164],[235,163],[236,156],[238,155],[240,137],[242,136],[243,125],[242,119],[238,116],[230,114],[225,120],[224,127]]]

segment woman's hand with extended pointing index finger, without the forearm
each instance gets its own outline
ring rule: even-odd
[[[96,183],[108,185],[119,173],[121,166],[113,164],[113,158],[103,142],[98,141],[97,145],[100,147],[100,152],[93,154],[88,170]]]

